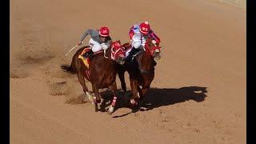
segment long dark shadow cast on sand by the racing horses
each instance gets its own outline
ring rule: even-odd
[[[133,109],[130,113],[136,113],[137,111],[153,110],[154,108],[160,106],[169,106],[175,103],[186,102],[188,100],[194,100],[195,102],[202,102],[206,98],[207,87],[199,86],[189,86],[182,87],[179,89],[158,89],[150,88],[146,93],[145,98],[139,103],[139,106],[136,109]],[[131,91],[126,92],[129,96]],[[127,98],[119,96],[118,107],[129,107],[127,106]],[[130,114],[128,113],[128,114]],[[113,118],[123,117],[128,114],[122,114],[119,116],[114,116]]]

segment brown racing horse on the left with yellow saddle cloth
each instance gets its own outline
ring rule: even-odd
[[[119,40],[112,42],[110,48],[107,49],[106,52],[104,51],[104,53],[96,54],[94,55],[94,58],[91,58],[88,69],[82,60],[78,58],[78,56],[82,54],[82,50],[86,47],[89,46],[82,47],[74,54],[70,66],[62,65],[62,70],[78,74],[78,80],[82,85],[83,91],[94,104],[96,112],[98,111],[98,103],[101,102],[98,90],[109,88],[114,94],[113,101],[108,110],[108,114],[112,114],[117,100],[117,84],[115,82],[117,66],[118,64],[123,65],[125,63],[124,48],[121,46]],[[94,98],[89,93],[84,78],[91,82]]]

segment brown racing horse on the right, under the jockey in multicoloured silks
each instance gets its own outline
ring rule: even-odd
[[[122,45],[127,49],[130,48],[129,43]],[[156,43],[152,38],[146,40],[145,50],[141,50],[134,54],[130,62],[126,62],[124,66],[119,66],[118,77],[122,84],[122,90],[126,91],[126,83],[124,79],[125,71],[130,75],[130,88],[132,97],[130,104],[137,106],[139,100],[144,98],[146,91],[149,90],[150,84],[154,79],[155,59],[161,58],[159,43]]]

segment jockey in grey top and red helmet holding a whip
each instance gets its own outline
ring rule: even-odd
[[[112,39],[110,38],[110,30],[106,26],[102,26],[100,30],[86,30],[86,32],[82,34],[78,46],[82,44],[83,39],[86,38],[88,34],[90,35],[89,46],[91,49],[85,54],[82,54],[83,58],[87,58],[95,52],[106,50],[110,47]]]

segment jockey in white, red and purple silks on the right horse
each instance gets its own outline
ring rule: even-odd
[[[147,38],[153,38],[156,42],[160,42],[160,38],[154,31],[150,29],[149,22],[142,22],[140,25],[135,24],[129,30],[129,36],[131,41],[132,49],[127,59],[129,59],[133,54],[139,50],[144,50],[144,46]]]

